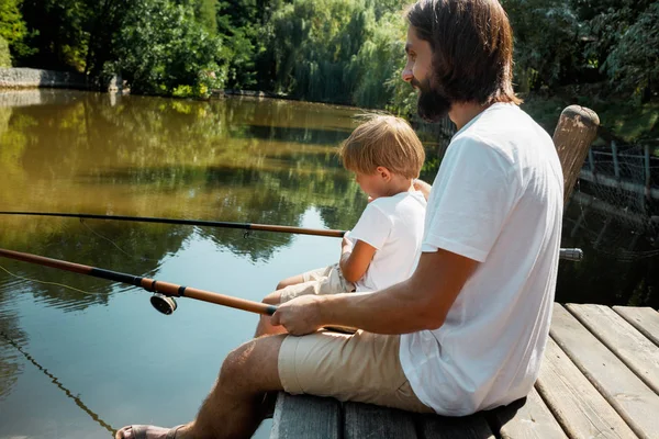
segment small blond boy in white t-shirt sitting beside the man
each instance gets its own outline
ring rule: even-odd
[[[400,117],[376,115],[342,145],[344,167],[355,172],[369,204],[342,243],[338,263],[279,282],[264,299],[279,304],[304,294],[382,290],[407,279],[423,238],[426,200],[413,182],[425,159],[421,140]],[[256,336],[280,328],[261,317]]]

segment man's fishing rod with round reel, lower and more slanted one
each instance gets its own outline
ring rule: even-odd
[[[275,305],[232,297],[228,295],[214,293],[212,291],[199,290],[192,286],[177,285],[176,283],[157,281],[155,279],[141,278],[133,274],[121,273],[119,271],[104,270],[102,268],[83,266],[81,263],[46,258],[38,255],[24,254],[21,251],[0,248],[0,256],[23,262],[36,263],[38,266],[56,268],[59,270],[71,271],[74,273],[141,286],[144,290],[154,293],[154,295],[150,297],[150,304],[157,311],[166,315],[174,313],[177,308],[174,297],[196,299],[198,301],[248,311],[256,314],[272,315],[277,311],[277,306]]]

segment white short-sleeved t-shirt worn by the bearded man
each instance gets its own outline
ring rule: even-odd
[[[526,396],[549,333],[563,178],[554,143],[498,103],[453,138],[428,198],[422,251],[479,261],[442,327],[401,336],[416,396],[462,416]]]

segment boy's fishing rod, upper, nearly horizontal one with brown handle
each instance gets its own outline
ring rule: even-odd
[[[64,218],[79,219],[112,219],[112,221],[132,221],[135,223],[159,223],[159,224],[180,224],[188,226],[241,228],[245,230],[279,232],[297,235],[314,235],[342,238],[346,230],[332,230],[325,228],[304,228],[292,226],[277,226],[269,224],[255,223],[232,223],[226,221],[203,221],[203,219],[178,219],[159,218],[150,216],[123,216],[123,215],[96,215],[89,213],[57,213],[57,212],[0,212],[0,215],[30,215],[30,216],[55,216]]]

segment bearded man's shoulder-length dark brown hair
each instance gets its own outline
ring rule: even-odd
[[[513,91],[513,31],[496,0],[420,0],[406,12],[433,48],[433,88],[451,102],[521,103]]]

